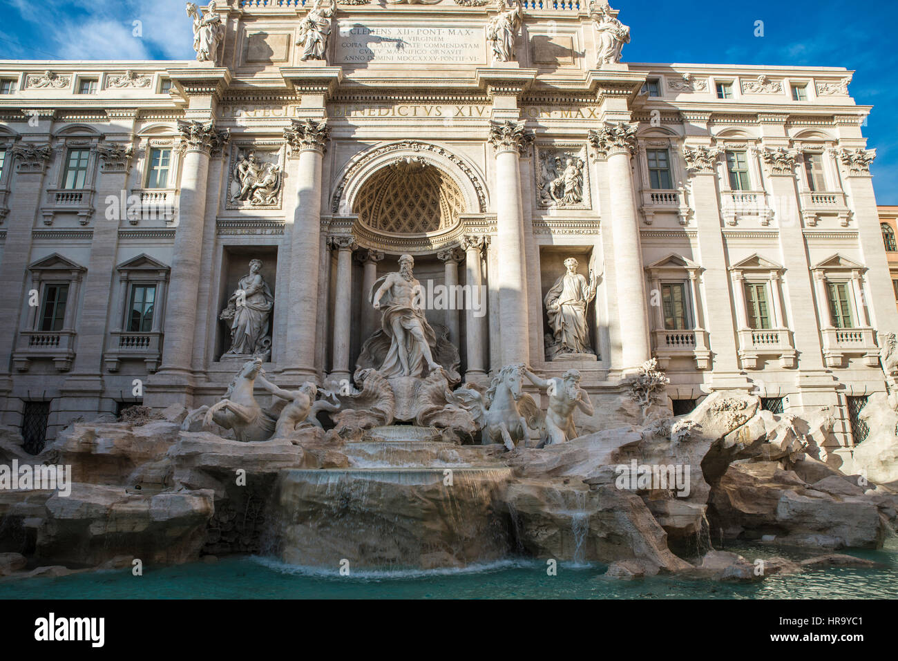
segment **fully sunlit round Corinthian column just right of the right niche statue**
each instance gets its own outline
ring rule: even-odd
[[[646,286],[642,278],[642,249],[633,203],[633,174],[629,160],[636,149],[636,126],[619,122],[589,131],[589,141],[608,161],[612,240],[618,314],[621,324],[621,359],[632,371],[650,356]]]

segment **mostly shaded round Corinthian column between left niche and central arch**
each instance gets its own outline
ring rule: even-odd
[[[299,154],[296,207],[290,230],[290,305],[287,308],[284,374],[315,377],[318,270],[321,251],[321,161],[327,120],[293,120],[284,129],[291,155]]]

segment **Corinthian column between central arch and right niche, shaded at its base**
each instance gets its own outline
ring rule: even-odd
[[[527,297],[524,271],[524,216],[518,161],[533,142],[524,122],[491,121],[489,142],[496,150],[497,269],[502,363],[528,362]]]

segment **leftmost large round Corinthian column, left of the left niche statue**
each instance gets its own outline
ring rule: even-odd
[[[190,371],[193,331],[197,321],[209,157],[213,151],[221,150],[230,137],[230,131],[216,131],[213,121],[179,121],[178,130],[180,149],[184,154],[183,174],[172,254],[172,281],[165,304],[161,375],[187,375]]]

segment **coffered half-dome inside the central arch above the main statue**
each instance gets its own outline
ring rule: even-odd
[[[451,176],[409,158],[375,172],[358,191],[353,212],[377,233],[430,234],[458,225],[462,189]]]

